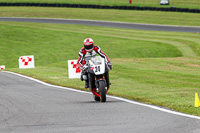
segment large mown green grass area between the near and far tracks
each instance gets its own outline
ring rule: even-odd
[[[200,116],[194,108],[194,94],[200,93],[198,34],[17,22],[0,22],[0,31],[0,65],[6,70],[85,90],[80,79],[68,78],[67,60],[77,59],[83,40],[91,37],[114,65],[109,94]],[[18,69],[23,55],[35,56],[35,69]]]

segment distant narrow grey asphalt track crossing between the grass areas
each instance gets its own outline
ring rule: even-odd
[[[154,30],[154,31],[193,32],[193,33],[200,32],[200,27],[120,23],[120,22],[78,20],[78,19],[51,19],[51,18],[45,19],[45,18],[0,17],[0,21],[56,23],[56,24],[79,24],[79,25],[115,27],[115,28],[126,28],[126,29],[139,29],[139,30]]]

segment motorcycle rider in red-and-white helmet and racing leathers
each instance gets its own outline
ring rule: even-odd
[[[108,56],[103,53],[99,46],[94,45],[92,38],[86,38],[83,41],[84,47],[79,51],[79,58],[77,61],[77,66],[82,70],[81,72],[81,81],[85,80],[85,88],[89,88],[89,80],[87,68],[84,65],[87,65],[88,61],[95,57],[96,54],[99,54],[102,58],[106,60],[110,69],[112,69],[112,63],[110,62]]]

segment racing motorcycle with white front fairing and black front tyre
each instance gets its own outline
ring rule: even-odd
[[[95,101],[106,102],[106,94],[110,88],[108,63],[100,56],[92,57],[88,65],[89,89]]]

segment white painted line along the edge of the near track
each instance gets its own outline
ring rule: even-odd
[[[41,80],[34,79],[32,77],[28,77],[28,76],[25,76],[25,75],[22,75],[22,74],[18,74],[18,73],[14,73],[14,72],[11,72],[11,71],[1,71],[1,72],[17,75],[17,76],[20,76],[20,77],[23,77],[23,78],[38,82],[38,83],[46,85],[46,86],[54,87],[54,88],[65,89],[65,90],[79,92],[79,93],[85,93],[85,94],[91,94],[91,92],[86,92],[86,91],[77,90],[77,89],[73,89],[73,88],[67,88],[67,87],[52,85],[52,84],[43,82]],[[140,106],[148,107],[148,108],[151,108],[151,109],[159,110],[159,111],[166,112],[166,113],[169,113],[169,114],[174,114],[174,115],[179,115],[179,116],[184,116],[184,117],[200,120],[199,116],[194,116],[194,115],[189,115],[189,114],[185,114],[185,113],[181,113],[181,112],[176,112],[176,111],[169,110],[169,109],[164,109],[164,108],[161,108],[161,107],[158,107],[158,106],[155,106],[155,105],[140,103],[140,102],[132,101],[132,100],[121,98],[121,97],[117,97],[117,96],[107,95],[107,97],[113,98],[113,99],[117,99],[117,100],[120,100],[120,101],[123,101],[123,102],[131,103],[131,104],[140,105]]]

